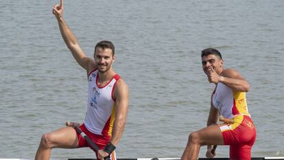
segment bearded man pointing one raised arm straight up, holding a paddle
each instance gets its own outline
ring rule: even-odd
[[[123,134],[129,104],[128,85],[113,70],[115,46],[110,41],[100,41],[95,45],[94,58],[87,57],[63,19],[63,8],[63,0],[60,0],[60,5],[55,5],[52,12],[64,42],[88,76],[86,117],[79,128],[99,147],[98,159],[115,160],[114,150]],[[44,134],[35,159],[49,159],[52,148],[87,147],[85,139],[71,126],[74,123],[68,122],[67,127]]]

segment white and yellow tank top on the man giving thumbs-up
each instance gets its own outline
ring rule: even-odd
[[[237,92],[227,87],[221,82],[217,83],[217,86],[212,94],[213,106],[220,111],[220,114],[232,119],[235,115],[248,115],[248,107],[246,104],[246,92]]]

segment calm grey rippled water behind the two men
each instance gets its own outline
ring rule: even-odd
[[[86,73],[62,41],[56,3],[0,2],[0,158],[33,158],[43,133],[84,120]],[[115,71],[130,87],[118,158],[180,157],[189,133],[206,126],[214,88],[200,62],[206,47],[250,82],[252,156],[284,156],[283,15],[281,0],[68,0],[64,11],[88,56],[98,41],[115,43]],[[217,152],[228,157],[226,146]],[[51,158],[93,152],[54,149]]]

